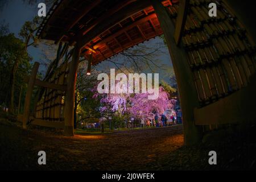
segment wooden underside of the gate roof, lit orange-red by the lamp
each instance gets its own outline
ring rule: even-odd
[[[162,1],[170,8],[178,1]],[[97,64],[127,48],[163,34],[148,0],[62,0],[49,10],[38,36],[55,42],[82,44]]]

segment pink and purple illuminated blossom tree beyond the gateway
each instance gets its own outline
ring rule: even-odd
[[[172,109],[173,105],[168,99],[168,93],[159,87],[159,97],[156,100],[148,100],[149,93],[137,94],[98,94],[101,97],[102,114],[114,113],[116,115],[129,114],[135,118],[153,119],[154,113],[164,113],[166,109]]]

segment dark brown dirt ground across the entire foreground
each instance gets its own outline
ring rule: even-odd
[[[45,166],[38,165],[41,150],[47,154]],[[208,163],[211,150],[218,153],[217,166]],[[69,138],[0,122],[0,169],[4,170],[251,169],[255,151],[254,142],[230,140],[185,147],[182,126]]]

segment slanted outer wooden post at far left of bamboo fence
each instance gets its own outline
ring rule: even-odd
[[[30,79],[28,81],[28,85],[27,85],[27,93],[26,93],[24,112],[22,117],[23,129],[27,129],[27,122],[29,121],[29,118],[30,118],[31,97],[32,97],[32,92],[35,85],[36,75],[38,73],[38,68],[39,68],[39,63],[35,62],[32,68]]]

